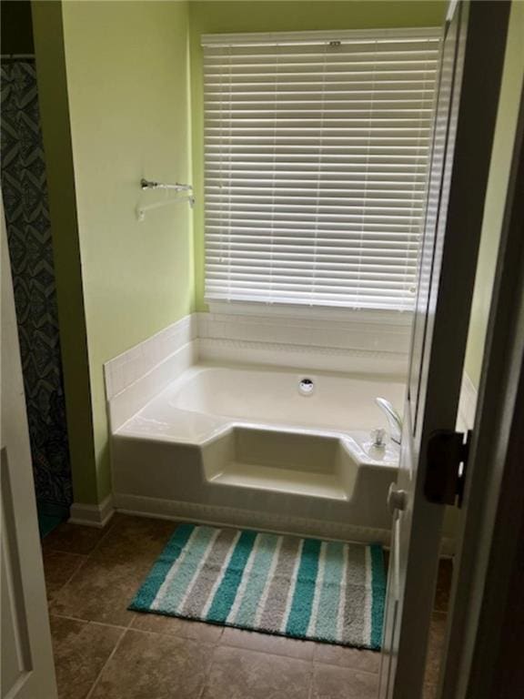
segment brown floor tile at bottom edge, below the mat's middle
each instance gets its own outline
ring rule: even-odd
[[[310,663],[219,645],[202,699],[305,699]]]

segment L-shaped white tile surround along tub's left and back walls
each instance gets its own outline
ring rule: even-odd
[[[407,314],[192,313],[104,365],[110,432],[198,361],[406,376]]]

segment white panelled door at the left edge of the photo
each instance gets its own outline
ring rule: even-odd
[[[55,699],[55,667],[36,520],[35,486],[9,267],[2,237],[1,633],[2,699]]]

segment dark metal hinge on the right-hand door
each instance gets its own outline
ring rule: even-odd
[[[428,440],[424,494],[429,502],[462,505],[471,431],[439,430]]]

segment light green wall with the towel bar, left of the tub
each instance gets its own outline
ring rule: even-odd
[[[136,219],[140,177],[191,179],[186,2],[65,2],[65,65],[96,451],[111,490],[103,364],[194,307],[184,204]],[[93,492],[76,492],[91,501]]]

